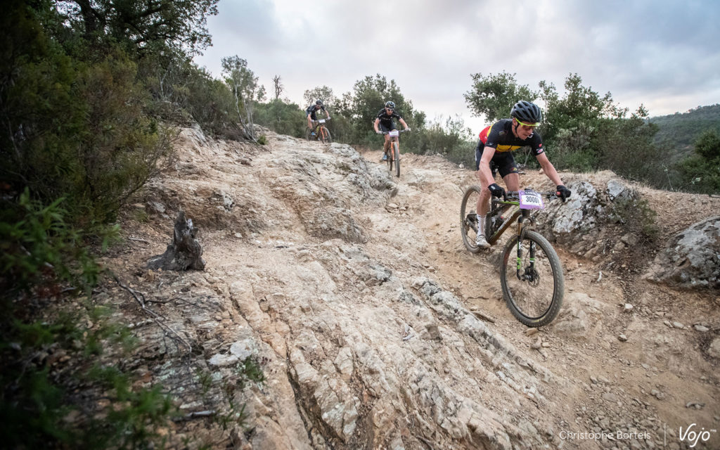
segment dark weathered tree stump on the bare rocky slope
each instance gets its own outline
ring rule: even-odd
[[[198,229],[193,228],[192,219],[185,219],[185,212],[180,210],[175,220],[173,241],[167,250],[148,262],[148,269],[185,271],[188,269],[204,270],[202,246],[195,239]]]

